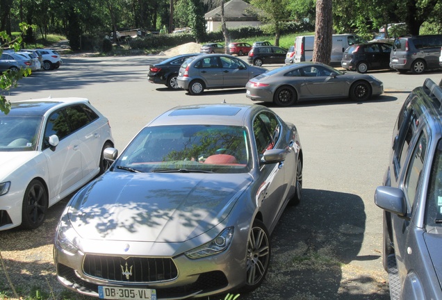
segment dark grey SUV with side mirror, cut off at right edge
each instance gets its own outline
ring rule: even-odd
[[[442,88],[430,79],[405,100],[375,203],[384,209],[391,299],[442,299]]]

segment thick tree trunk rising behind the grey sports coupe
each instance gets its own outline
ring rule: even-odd
[[[329,65],[331,56],[331,39],[333,35],[331,0],[316,1],[315,44],[313,61]]]

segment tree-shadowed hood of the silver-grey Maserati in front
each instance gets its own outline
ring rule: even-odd
[[[106,172],[69,203],[81,238],[184,242],[229,215],[249,174]]]

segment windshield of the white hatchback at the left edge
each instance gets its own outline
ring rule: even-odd
[[[0,151],[35,151],[41,117],[0,116]]]

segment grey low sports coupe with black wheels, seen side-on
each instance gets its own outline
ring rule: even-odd
[[[384,92],[377,78],[366,74],[338,71],[322,63],[295,63],[274,69],[249,80],[246,97],[254,101],[291,106],[304,99],[350,97],[366,101]]]

